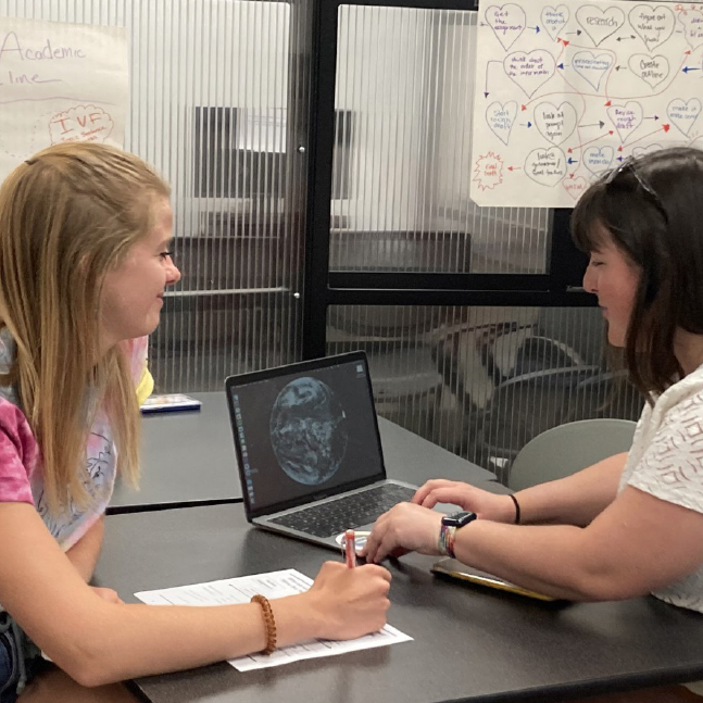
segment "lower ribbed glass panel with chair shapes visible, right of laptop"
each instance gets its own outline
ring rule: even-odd
[[[604,362],[597,307],[336,305],[329,353],[364,349],[379,415],[507,481],[536,435],[642,406]],[[441,474],[441,467],[438,467]]]

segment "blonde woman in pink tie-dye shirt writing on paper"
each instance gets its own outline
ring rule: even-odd
[[[0,703],[131,700],[106,685],[271,644],[264,603],[148,607],[88,586],[115,472],[137,480],[146,336],[180,277],[172,219],[151,168],[95,143],[51,147],[0,189]],[[389,581],[324,565],[271,602],[277,644],[379,629]]]

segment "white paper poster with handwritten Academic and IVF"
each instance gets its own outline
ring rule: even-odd
[[[50,145],[122,147],[127,89],[124,28],[0,17],[0,181]]]

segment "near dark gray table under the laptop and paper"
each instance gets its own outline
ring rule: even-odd
[[[240,504],[106,519],[97,579],[141,589],[294,567],[334,552],[250,528]],[[391,565],[389,622],[413,642],[238,673],[227,664],[140,679],[153,703],[563,701],[703,678],[703,616],[654,598],[558,605]]]

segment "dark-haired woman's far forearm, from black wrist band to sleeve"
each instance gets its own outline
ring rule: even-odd
[[[566,478],[518,491],[522,523],[588,525],[615,500],[626,460],[627,453],[615,454]]]

